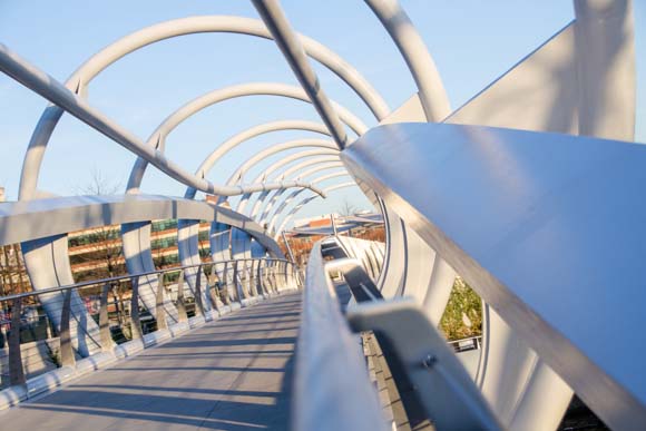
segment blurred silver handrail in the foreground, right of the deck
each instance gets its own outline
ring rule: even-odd
[[[296,351],[293,429],[385,431],[359,336],[341,314],[321,242],[307,262]]]

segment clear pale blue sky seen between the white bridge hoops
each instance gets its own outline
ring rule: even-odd
[[[420,30],[442,76],[452,107],[458,107],[510,66],[539,46],[574,17],[570,1],[431,1],[402,0]],[[362,1],[283,0],[292,23],[340,53],[383,95],[391,108],[415,90],[399,52]],[[0,0],[0,41],[55,78],[67,77],[94,52],[143,27],[194,14],[257,18],[249,1]],[[637,140],[646,141],[646,2],[635,1],[638,71]],[[358,97],[335,76],[315,65],[329,96],[355,111],[369,126],[375,120]],[[186,101],[213,89],[247,81],[296,84],[275,45],[236,35],[195,35],[146,47],[121,59],[89,87],[90,102],[146,139],[155,127]],[[0,185],[17,197],[20,166],[33,127],[46,106],[6,76],[0,76]],[[278,119],[319,120],[303,102],[275,97],[248,97],[205,109],[169,137],[168,156],[193,172],[215,145],[251,126]],[[226,156],[211,175],[216,183],[258,148],[303,137],[306,133],[274,133],[253,139]],[[65,116],[50,141],[40,188],[60,195],[78,193],[100,170],[125,187],[135,157],[70,116]],[[258,168],[266,167],[266,160]],[[256,172],[249,175],[255,176]],[[323,186],[344,182],[324,183]],[[185,187],[149,169],[143,190],[183,195]],[[368,203],[360,192],[345,189],[326,202],[314,200],[300,215],[323,214],[344,199]]]

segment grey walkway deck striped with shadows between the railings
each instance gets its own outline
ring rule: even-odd
[[[285,430],[301,294],[239,310],[0,413],[0,430]]]

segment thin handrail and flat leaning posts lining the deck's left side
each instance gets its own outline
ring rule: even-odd
[[[248,265],[251,262],[251,265]],[[255,263],[258,263],[255,265]],[[241,265],[242,263],[242,268]],[[265,263],[265,265],[261,265],[260,263]],[[216,286],[215,283],[212,283],[214,280],[213,277],[217,276],[219,281],[222,277],[219,274],[212,273],[209,277],[206,280],[206,291],[203,292],[203,274],[200,273],[204,266],[211,266],[214,272],[217,271],[216,266],[224,264],[224,272],[229,273],[233,270],[233,284],[235,286],[234,291],[229,290],[229,281],[228,276],[225,276],[225,288],[226,294],[224,291],[218,290],[218,295],[215,297],[213,296],[212,287]],[[229,265],[232,264],[232,265]],[[255,266],[255,267],[254,267]],[[75,359],[75,351],[72,341],[77,339],[72,336],[72,327],[71,321],[76,320],[77,323],[77,331],[84,331],[84,336],[87,336],[88,340],[97,346],[100,347],[102,352],[110,352],[115,346],[115,341],[112,340],[110,333],[110,322],[108,315],[108,295],[109,290],[114,286],[115,282],[121,280],[130,280],[131,281],[131,293],[130,293],[130,310],[129,315],[123,315],[125,317],[124,321],[119,319],[119,323],[123,325],[129,325],[130,339],[133,341],[144,341],[144,331],[141,327],[141,321],[139,316],[139,280],[141,276],[147,275],[157,275],[157,287],[154,292],[155,295],[155,304],[153,305],[153,310],[148,310],[154,314],[155,321],[157,324],[157,331],[168,330],[168,322],[167,315],[168,311],[166,306],[168,304],[173,304],[169,298],[166,296],[166,286],[164,283],[164,275],[167,273],[179,272],[179,278],[177,280],[177,300],[176,300],[176,308],[177,308],[177,319],[175,320],[176,323],[186,322],[188,320],[188,315],[186,312],[186,304],[184,301],[184,283],[186,282],[186,274],[185,270],[190,270],[197,267],[197,277],[195,278],[194,283],[194,297],[195,297],[195,314],[196,316],[199,315],[204,317],[205,321],[209,321],[213,319],[213,314],[211,314],[211,310],[215,310],[218,314],[221,313],[222,305],[224,306],[229,305],[231,296],[235,297],[235,302],[239,302],[241,306],[244,306],[244,301],[248,300],[253,296],[265,296],[271,294],[271,292],[278,292],[281,287],[298,287],[300,280],[297,277],[296,265],[286,259],[282,258],[267,258],[267,257],[260,257],[260,258],[238,258],[238,259],[223,259],[217,262],[205,262],[192,265],[183,265],[183,266],[175,266],[172,268],[163,268],[149,272],[143,272],[137,274],[128,274],[121,275],[116,277],[106,277],[100,280],[92,280],[81,283],[76,283],[72,285],[66,286],[57,286],[51,287],[42,291],[36,292],[26,292],[19,293],[13,295],[7,295],[0,297],[1,302],[11,302],[11,332],[9,335],[9,380],[12,386],[25,386],[27,384],[27,376],[23,370],[23,361],[22,361],[22,352],[20,347],[20,316],[21,316],[21,308],[22,308],[22,298],[29,296],[38,296],[43,294],[51,294],[51,293],[63,293],[62,294],[62,304],[60,310],[57,310],[57,313],[60,313],[60,322],[59,322],[59,352],[60,352],[60,365],[61,366],[71,366],[74,368],[76,364]],[[267,271],[265,273],[265,271]],[[246,273],[246,275],[242,275],[242,273]],[[211,285],[209,285],[211,284]],[[92,332],[94,329],[90,329],[86,325],[80,325],[80,321],[78,317],[78,313],[86,313],[87,311],[74,311],[72,310],[72,293],[75,290],[79,290],[87,286],[100,285],[101,293],[100,293],[100,310],[99,310],[99,321],[98,321],[98,333]],[[267,287],[268,285],[268,287]],[[204,295],[204,296],[203,296]],[[207,301],[213,308],[206,306],[205,301]],[[121,303],[123,305],[123,303]],[[231,308],[228,308],[231,311]],[[121,327],[124,330],[125,326]],[[80,345],[80,344],[79,344]],[[146,347],[146,343],[140,344],[143,347]],[[87,350],[89,355],[92,353]]]

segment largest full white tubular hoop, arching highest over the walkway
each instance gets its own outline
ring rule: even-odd
[[[231,32],[264,39],[272,38],[262,21],[249,18],[212,16],[165,21],[136,31],[104,48],[72,74],[66,81],[66,87],[77,95],[85,97],[89,82],[108,66],[128,53],[160,40],[203,32]],[[346,82],[373,111],[378,120],[388,116],[390,112],[388,105],[352,66],[315,40],[302,35],[298,35],[298,38],[307,55],[327,67]],[[31,199],[36,196],[45,151],[62,112],[63,110],[61,108],[49,106],[45,109],[36,126],[22,165],[19,190],[19,198],[21,200]]]

